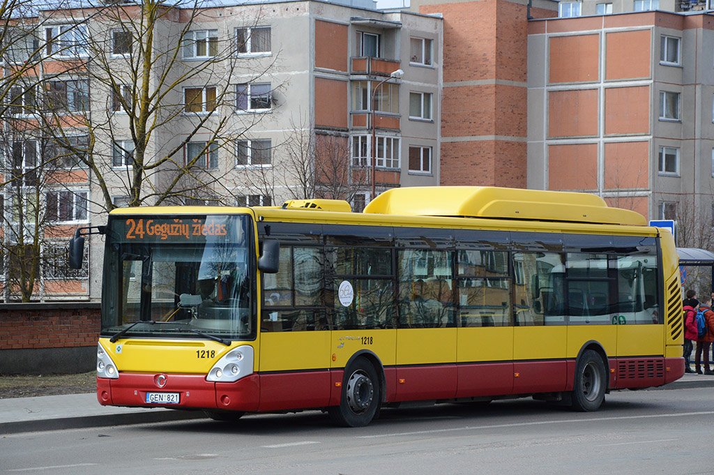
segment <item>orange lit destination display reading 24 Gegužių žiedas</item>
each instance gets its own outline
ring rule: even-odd
[[[203,241],[207,237],[226,236],[226,221],[218,219],[136,219],[121,221],[124,229],[119,230],[127,241]],[[119,226],[121,227],[121,226]]]

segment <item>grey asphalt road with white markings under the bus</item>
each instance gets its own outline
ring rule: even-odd
[[[712,474],[713,389],[385,410],[361,429],[261,414],[3,436],[0,474]]]

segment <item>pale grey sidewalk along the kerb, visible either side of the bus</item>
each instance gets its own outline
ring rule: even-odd
[[[714,376],[685,374],[659,390],[714,388]],[[0,436],[20,432],[104,427],[206,417],[201,411],[101,406],[96,394],[0,399]]]

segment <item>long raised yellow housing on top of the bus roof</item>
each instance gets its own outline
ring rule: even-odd
[[[597,224],[647,224],[635,211],[610,208],[600,196],[496,186],[414,186],[385,191],[366,214],[468,216]]]

